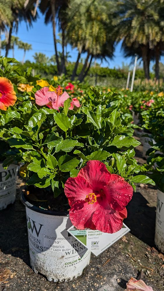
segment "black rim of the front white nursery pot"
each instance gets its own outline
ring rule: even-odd
[[[67,217],[69,215],[69,211],[64,212],[64,211],[44,210],[42,208],[39,208],[38,206],[31,204],[29,201],[27,201],[23,191],[21,193],[20,200],[27,208],[38,213],[43,213],[43,214],[53,215],[53,216],[67,216]]]

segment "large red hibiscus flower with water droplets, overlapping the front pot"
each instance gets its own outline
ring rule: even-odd
[[[115,233],[127,217],[125,206],[133,188],[119,175],[111,174],[100,161],[88,161],[75,178],[68,178],[64,192],[70,205],[70,220],[77,229],[90,228]]]

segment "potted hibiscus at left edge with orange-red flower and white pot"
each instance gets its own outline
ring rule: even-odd
[[[11,64],[14,65],[11,65]],[[31,69],[22,72],[14,58],[0,58],[0,129],[12,128],[17,125],[21,114],[27,113],[32,107],[29,95],[20,94],[20,82],[25,82],[24,91],[30,92],[34,86],[29,82],[37,78],[31,76]],[[17,88],[18,87],[18,88]],[[22,92],[21,92],[22,93]],[[2,164],[9,145],[0,138],[0,210],[5,209],[16,198],[17,165],[10,164],[6,170]],[[14,152],[16,154],[16,152]],[[19,164],[19,160],[17,160]]]

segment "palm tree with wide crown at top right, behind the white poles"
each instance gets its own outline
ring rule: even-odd
[[[163,0],[116,0],[118,15],[117,41],[124,40],[128,47],[135,43],[141,49],[145,78],[149,79],[149,50],[161,41],[164,26],[159,15]]]

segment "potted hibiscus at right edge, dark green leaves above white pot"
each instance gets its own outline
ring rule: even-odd
[[[160,251],[164,252],[164,110],[163,107],[152,111],[149,121],[145,127],[149,129],[155,140],[147,151],[147,164],[143,164],[141,171],[149,173],[157,186],[157,209],[156,209],[156,230],[155,244]],[[147,120],[146,120],[147,121]]]

